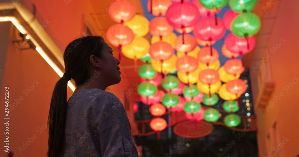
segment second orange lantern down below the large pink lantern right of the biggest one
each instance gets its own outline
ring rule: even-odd
[[[198,79],[205,84],[213,84],[219,80],[219,74],[216,70],[205,69],[199,73]]]

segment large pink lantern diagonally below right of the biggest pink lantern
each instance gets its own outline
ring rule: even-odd
[[[200,18],[193,29],[193,35],[203,41],[217,41],[221,39],[224,34],[224,24],[218,17],[217,24],[215,24],[214,17]]]

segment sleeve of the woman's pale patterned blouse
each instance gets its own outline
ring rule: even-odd
[[[129,119],[120,101],[109,102],[95,116],[96,131],[100,135],[99,152],[103,157],[138,157]]]

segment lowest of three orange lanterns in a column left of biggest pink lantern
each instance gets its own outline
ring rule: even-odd
[[[150,57],[161,62],[169,59],[173,54],[174,49],[172,46],[164,41],[156,42],[149,48]]]

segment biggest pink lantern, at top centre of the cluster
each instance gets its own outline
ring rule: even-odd
[[[190,2],[174,3],[166,11],[168,23],[176,28],[193,26],[199,18],[196,6]]]

